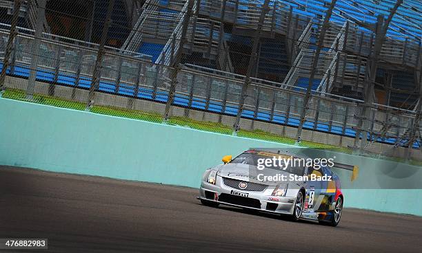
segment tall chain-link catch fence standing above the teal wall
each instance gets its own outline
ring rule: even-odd
[[[39,10],[38,2],[24,4]],[[253,36],[248,34],[256,29],[263,5],[255,4],[255,11],[248,12],[240,6],[246,3],[230,0],[224,1],[225,12],[221,12],[223,3],[217,1],[189,2],[116,0],[110,10],[108,1],[77,1],[72,5],[75,10],[66,12],[61,1],[49,1],[46,19],[40,19],[43,33],[37,54],[33,50],[37,35],[32,29],[37,16],[28,22],[21,9],[3,98],[345,153],[422,159],[420,111],[363,100],[373,34],[359,32],[356,25],[330,23],[310,100],[303,104],[321,20],[270,1],[259,50],[252,52]],[[84,4],[90,8],[80,13]],[[2,59],[8,50],[14,11],[8,6],[9,14],[1,17],[5,23],[0,24]],[[111,23],[101,50],[110,11]],[[66,17],[61,25],[68,32],[52,25],[59,17]],[[81,26],[88,29],[83,36]],[[181,36],[183,28],[185,36]],[[388,43],[391,38],[381,51],[383,59],[396,54],[394,50],[389,53]],[[420,45],[410,39],[394,43],[407,49],[394,56],[394,61],[401,57],[408,67],[419,67]],[[257,63],[247,73],[252,54],[257,55]],[[38,56],[37,69],[31,68],[34,56]],[[35,92],[28,98],[31,74],[36,75]],[[245,100],[240,104],[245,83]],[[90,89],[94,91],[92,102]],[[417,105],[418,96],[402,96],[412,100],[406,104]],[[363,108],[370,113],[363,116]],[[170,117],[164,120],[167,113]]]

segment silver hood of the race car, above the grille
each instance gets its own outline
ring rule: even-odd
[[[283,170],[273,170],[271,168],[264,168],[263,170],[258,170],[257,166],[252,166],[248,164],[224,164],[219,166],[218,175],[221,177],[230,177],[232,179],[238,179],[242,181],[249,181],[258,184],[266,184],[268,186],[276,186],[277,184],[287,184],[287,181],[260,181],[258,180],[258,175],[263,174],[266,176],[274,175],[290,175]]]

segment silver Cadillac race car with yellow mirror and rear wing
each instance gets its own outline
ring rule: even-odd
[[[262,164],[265,159],[270,162]],[[277,159],[280,166],[271,162]],[[288,159],[309,161],[310,157],[273,149],[248,150],[234,159],[226,155],[223,164],[203,173],[198,199],[205,206],[223,204],[287,214],[293,221],[309,219],[338,225],[344,196],[340,179],[331,167],[351,170],[352,180],[359,168],[335,162],[330,166],[300,162],[298,165]]]

